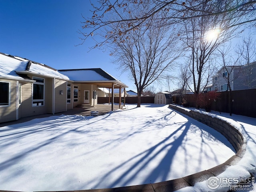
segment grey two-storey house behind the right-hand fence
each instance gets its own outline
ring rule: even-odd
[[[218,70],[212,77],[212,84],[206,86],[205,91],[227,91],[227,77],[230,74],[231,90],[256,88],[256,62],[244,66],[226,66]]]

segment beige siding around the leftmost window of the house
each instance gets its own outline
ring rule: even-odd
[[[10,83],[9,106],[0,106],[0,122],[16,120],[16,80],[0,79],[2,82]]]

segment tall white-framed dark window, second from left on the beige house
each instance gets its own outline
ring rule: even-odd
[[[44,78],[33,77],[36,80],[32,89],[32,106],[44,106]]]

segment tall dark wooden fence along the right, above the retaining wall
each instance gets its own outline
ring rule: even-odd
[[[230,92],[218,92],[220,95],[216,101],[212,101],[211,110],[229,113]],[[180,104],[180,96],[173,96],[174,103]],[[196,95],[186,94],[181,102],[186,100],[190,107],[196,107]],[[231,92],[232,114],[244,115],[256,118],[256,89],[236,90]]]

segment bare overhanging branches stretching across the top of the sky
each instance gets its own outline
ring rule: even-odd
[[[209,6],[202,9],[205,2]],[[146,26],[152,19],[155,23],[164,20],[166,25],[170,25],[191,18],[229,14],[233,22],[226,27],[230,28],[256,21],[255,5],[254,0],[98,0],[92,4],[92,18],[84,18],[82,22],[81,44],[99,32],[103,32],[106,38],[96,42],[94,47],[101,47],[115,36],[125,39],[127,32]],[[213,10],[212,7],[220,8]],[[108,26],[112,24],[116,28],[110,31]]]

